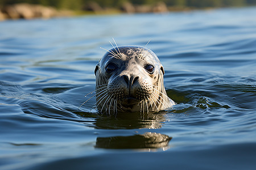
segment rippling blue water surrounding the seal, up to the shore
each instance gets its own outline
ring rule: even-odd
[[[234,8],[1,22],[0,169],[254,169],[255,16]],[[77,110],[112,37],[151,40],[174,109],[108,117],[93,97]]]

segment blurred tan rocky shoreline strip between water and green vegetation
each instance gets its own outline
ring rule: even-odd
[[[35,5],[30,3],[16,3],[14,5],[0,6],[0,21],[17,19],[49,19],[71,17],[79,15],[110,15],[110,14],[136,14],[136,13],[166,13],[176,11],[212,10],[218,7],[187,7],[167,6],[164,2],[154,5],[134,5],[125,2],[117,7],[101,7],[96,2],[90,2],[81,10],[59,10],[51,6]]]

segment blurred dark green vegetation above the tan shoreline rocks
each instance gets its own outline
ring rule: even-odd
[[[154,5],[157,2],[164,2],[167,6],[195,8],[256,5],[256,0],[0,0],[0,6],[32,3],[60,9],[81,10],[89,2],[96,2],[101,7],[113,8],[120,7],[124,2],[130,2],[134,5]]]

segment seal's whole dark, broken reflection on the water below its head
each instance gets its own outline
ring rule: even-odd
[[[166,121],[166,113],[127,113],[115,116],[100,114],[96,118],[96,129],[148,129],[148,132],[134,135],[98,136],[96,148],[106,149],[143,149],[147,151],[161,149],[167,150],[172,137],[165,134],[151,132],[150,129],[159,129]],[[136,130],[135,130],[136,131]]]

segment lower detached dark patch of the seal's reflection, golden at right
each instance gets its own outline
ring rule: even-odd
[[[95,147],[112,149],[162,148],[163,150],[166,150],[168,148],[168,142],[171,141],[171,139],[172,137],[168,137],[168,135],[151,132],[128,137],[98,137]]]

